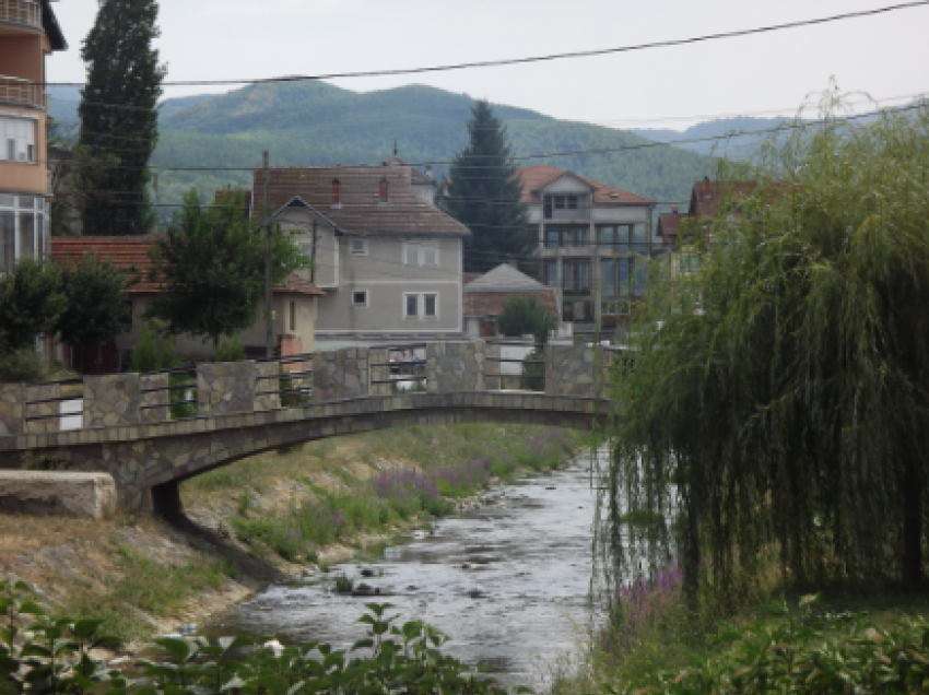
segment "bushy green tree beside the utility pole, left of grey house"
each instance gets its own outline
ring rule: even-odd
[[[196,190],[184,212],[151,251],[150,280],[161,283],[146,311],[164,321],[168,333],[201,335],[219,346],[221,335],[236,335],[255,325],[264,297],[264,239],[243,215],[244,193],[204,205]],[[271,281],[309,266],[293,238],[271,235]]]

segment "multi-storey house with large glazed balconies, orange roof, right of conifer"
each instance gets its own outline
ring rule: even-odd
[[[548,165],[518,176],[545,284],[561,293],[561,319],[578,334],[621,323],[661,247],[651,232],[655,201]]]

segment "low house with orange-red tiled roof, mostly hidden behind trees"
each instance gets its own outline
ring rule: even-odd
[[[163,291],[161,284],[150,282],[149,271],[152,260],[149,251],[154,248],[154,236],[137,237],[55,237],[51,239],[51,258],[59,266],[80,261],[84,256],[95,256],[99,261],[109,260],[137,280],[129,288],[131,325],[126,331],[115,335],[110,344],[103,350],[103,373],[125,369],[131,360],[132,351],[145,325],[144,314],[152,298]],[[316,342],[317,302],[325,293],[311,282],[296,273],[290,274],[273,293],[274,335],[281,354],[294,355],[313,352]],[[255,317],[255,325],[238,338],[250,356],[264,356],[266,327],[261,319],[263,306]],[[212,360],[213,346],[209,341],[191,335],[176,339],[178,355],[185,361],[198,362]],[[96,346],[93,358],[84,358],[84,349],[80,345],[61,345],[59,360],[70,368],[83,372],[96,370]]]

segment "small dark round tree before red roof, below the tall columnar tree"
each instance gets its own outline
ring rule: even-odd
[[[61,267],[61,288],[68,306],[56,322],[61,340],[69,345],[96,345],[126,329],[131,316],[130,278],[109,259],[99,262],[85,254],[78,262]]]

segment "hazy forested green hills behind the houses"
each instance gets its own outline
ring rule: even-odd
[[[70,97],[70,98],[69,98]],[[77,91],[52,99],[62,126],[77,123]],[[162,166],[251,167],[262,150],[272,165],[376,164],[393,142],[408,162],[447,162],[468,143],[466,123],[473,99],[466,94],[410,85],[358,93],[325,82],[259,84],[221,95],[166,99],[153,164]],[[517,155],[647,145],[621,130],[557,120],[495,105]],[[661,201],[684,201],[691,185],[707,173],[709,157],[678,148],[644,148],[609,154],[527,160],[549,163]],[[447,166],[436,164],[436,176]],[[164,172],[158,198],[177,202],[190,186],[204,191],[246,184],[248,174]]]

